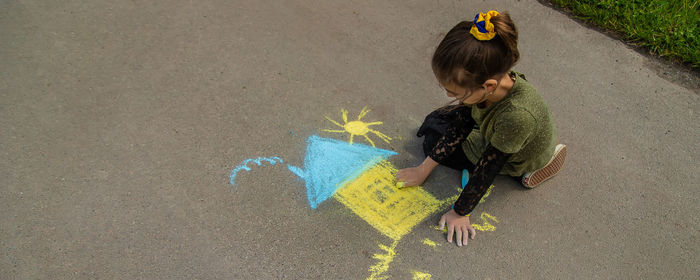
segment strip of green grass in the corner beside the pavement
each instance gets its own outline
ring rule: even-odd
[[[700,0],[550,1],[652,54],[700,67]]]

